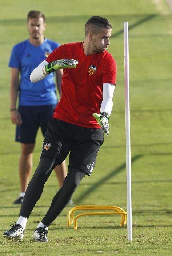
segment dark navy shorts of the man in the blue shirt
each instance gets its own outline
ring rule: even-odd
[[[52,118],[56,104],[43,106],[19,106],[23,123],[16,127],[15,141],[35,143],[38,128],[41,127],[43,136],[47,131],[47,123]]]

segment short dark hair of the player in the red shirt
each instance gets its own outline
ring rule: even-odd
[[[100,29],[112,29],[111,23],[103,17],[100,16],[92,16],[86,23],[85,23],[85,36],[88,33],[98,34]]]

